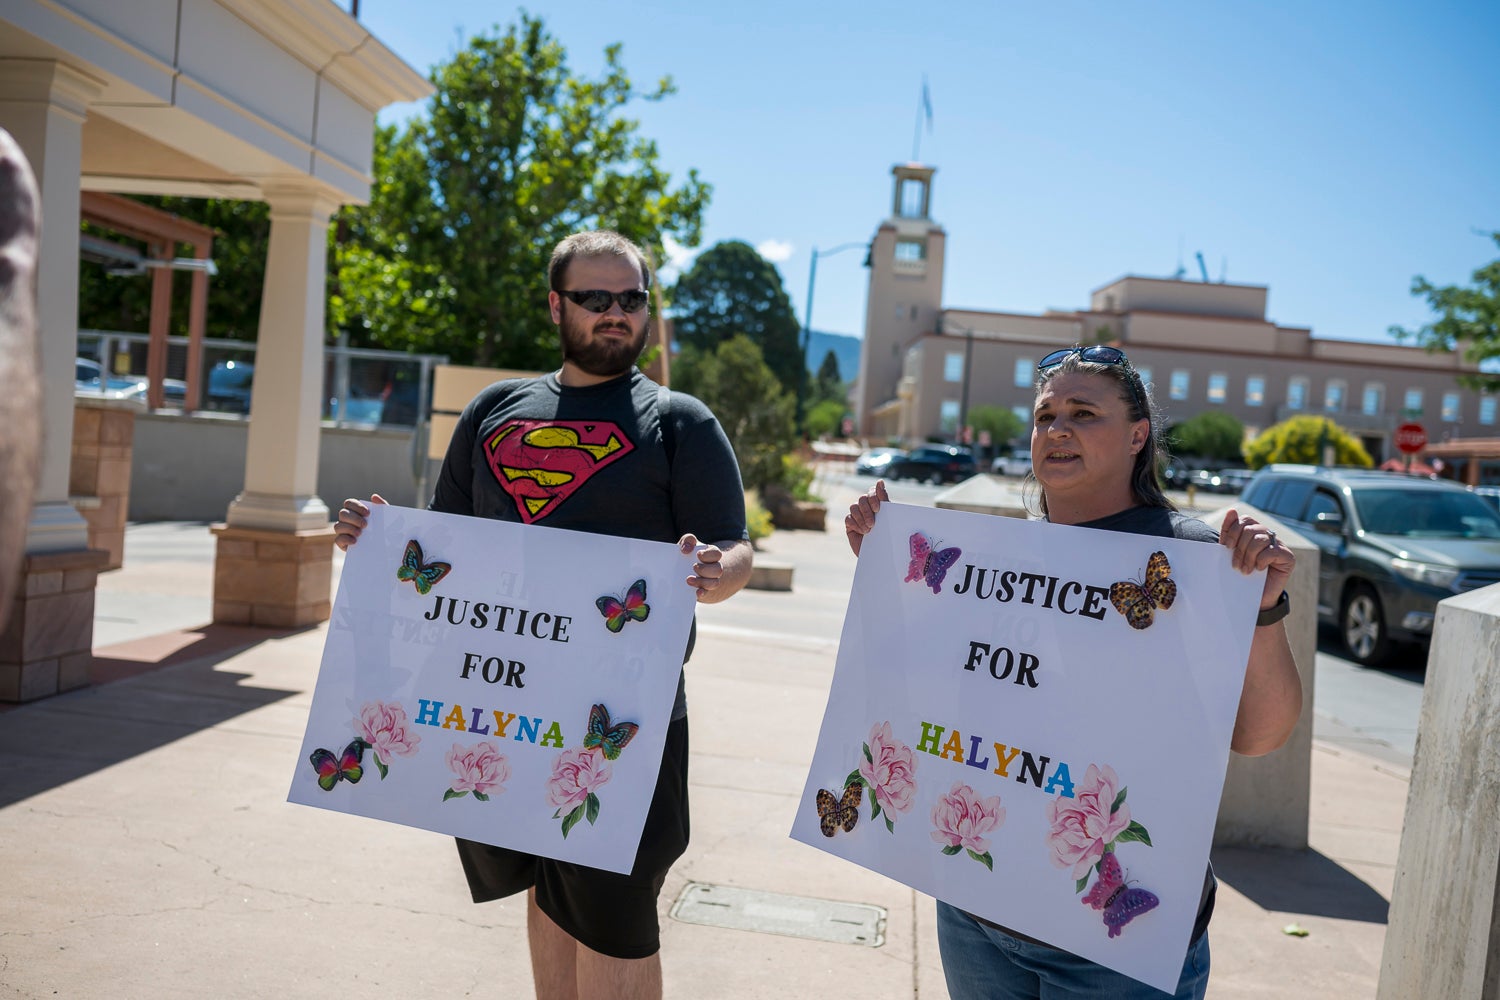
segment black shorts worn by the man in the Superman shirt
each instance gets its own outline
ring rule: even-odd
[[[537,906],[574,940],[610,958],[650,958],[662,949],[657,897],[672,862],[687,850],[687,718],[666,730],[662,771],[628,876],[459,840],[474,903],[537,888]]]

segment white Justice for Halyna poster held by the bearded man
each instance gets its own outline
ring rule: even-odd
[[[658,541],[375,505],[288,801],[630,871],[692,568]]]

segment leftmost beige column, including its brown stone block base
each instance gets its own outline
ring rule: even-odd
[[[78,354],[78,192],[82,123],[100,81],[56,60],[0,60],[0,126],[42,189],[38,325],[42,468],[16,597],[0,609],[0,700],[30,702],[88,682],[94,582],[106,553],[69,502]],[[3,433],[3,432],[0,432]]]

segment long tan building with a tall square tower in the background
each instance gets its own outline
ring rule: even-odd
[[[1262,285],[1125,276],[1076,312],[944,309],[933,168],[902,165],[892,174],[896,205],[870,253],[854,393],[866,438],[954,439],[980,405],[1029,421],[1036,361],[1100,342],[1130,352],[1168,423],[1221,409],[1254,435],[1287,417],[1326,414],[1377,462],[1396,453],[1392,436],[1407,420],[1432,442],[1497,435],[1497,397],[1458,384],[1456,375],[1476,370],[1458,355],[1314,339],[1305,327],[1266,318]],[[1500,480],[1500,466],[1484,478]]]

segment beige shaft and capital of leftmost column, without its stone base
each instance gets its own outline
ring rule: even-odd
[[[42,187],[38,324],[42,361],[42,469],[27,553],[88,547],[88,526],[68,502],[78,354],[78,193],[82,124],[104,84],[54,60],[0,60],[0,126],[32,162]]]

